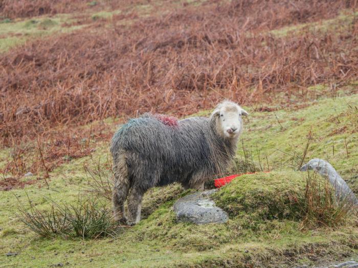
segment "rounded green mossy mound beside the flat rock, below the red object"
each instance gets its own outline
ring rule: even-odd
[[[300,220],[304,211],[305,173],[242,175],[213,196],[231,217],[250,214],[256,221]]]

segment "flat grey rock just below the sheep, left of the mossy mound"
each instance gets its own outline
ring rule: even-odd
[[[217,189],[189,194],[175,202],[173,210],[177,221],[194,224],[226,223],[228,213],[215,206],[210,195]]]

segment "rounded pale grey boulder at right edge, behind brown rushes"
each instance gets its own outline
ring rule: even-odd
[[[307,169],[317,170],[322,177],[328,178],[330,184],[335,188],[337,199],[346,200],[355,206],[358,205],[355,194],[330,163],[320,158],[314,158],[303,165],[300,170],[306,171]]]

